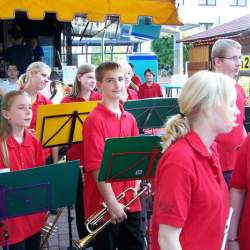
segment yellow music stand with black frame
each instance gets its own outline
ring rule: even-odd
[[[97,101],[41,105],[36,135],[44,148],[82,142],[82,124]]]

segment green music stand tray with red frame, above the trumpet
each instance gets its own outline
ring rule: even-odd
[[[148,179],[162,155],[159,136],[110,138],[105,142],[99,181]]]

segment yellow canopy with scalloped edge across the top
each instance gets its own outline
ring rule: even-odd
[[[138,16],[151,16],[155,24],[180,25],[174,0],[1,0],[0,19],[15,18],[16,11],[27,12],[33,20],[56,13],[59,21],[71,21],[83,14],[89,21],[103,22],[106,15],[119,16],[121,23],[137,23]]]

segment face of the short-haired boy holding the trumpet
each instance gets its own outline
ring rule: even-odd
[[[97,86],[101,90],[103,99],[120,99],[125,88],[124,72],[118,70],[105,72],[102,82],[98,82]]]

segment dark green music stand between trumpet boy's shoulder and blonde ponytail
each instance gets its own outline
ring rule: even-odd
[[[134,115],[139,129],[162,128],[166,119],[179,113],[177,98],[149,98],[124,103]]]

